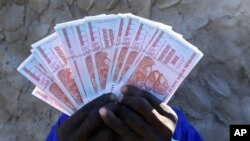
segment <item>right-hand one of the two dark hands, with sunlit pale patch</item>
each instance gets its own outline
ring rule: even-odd
[[[171,107],[134,86],[124,86],[121,91],[124,96],[116,114],[105,107],[99,110],[107,126],[124,140],[165,141],[171,138],[177,124],[177,115]]]

